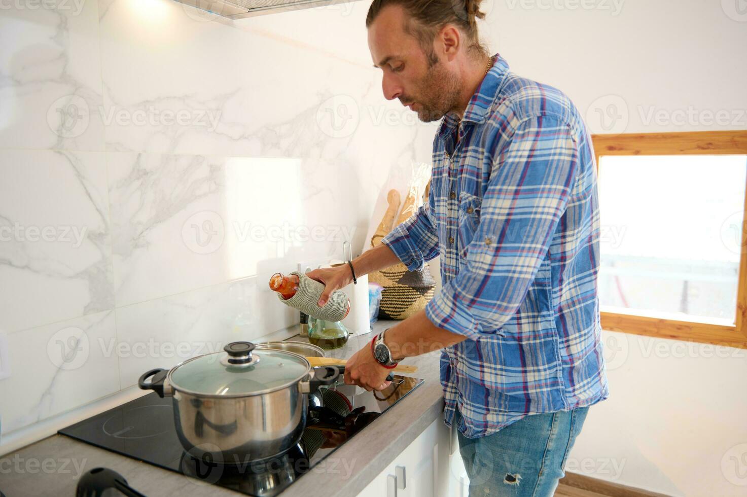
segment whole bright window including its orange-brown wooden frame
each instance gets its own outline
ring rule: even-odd
[[[602,327],[747,348],[747,132],[592,140]]]

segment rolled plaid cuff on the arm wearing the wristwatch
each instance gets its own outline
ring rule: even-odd
[[[425,315],[433,326],[468,339],[477,341],[483,334],[483,327],[475,321],[465,298],[453,285],[453,280],[444,285],[426,304]]]

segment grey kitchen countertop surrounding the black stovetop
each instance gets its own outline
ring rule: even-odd
[[[396,324],[378,321],[374,333]],[[257,339],[287,339],[297,332],[291,327]],[[347,359],[367,345],[373,335],[352,336],[343,348],[326,351],[327,356]],[[292,339],[300,339],[296,336]],[[418,366],[414,377],[425,381],[383,416],[356,433],[349,442],[329,457],[338,464],[314,467],[282,496],[314,496],[323,490],[325,496],[355,496],[415,440],[443,411],[441,384],[438,381],[440,352],[410,357],[402,363]],[[134,489],[149,497],[172,496],[240,496],[222,487],[206,485],[176,472],[152,466],[129,457],[78,442],[63,435],[53,435],[0,457],[0,491],[7,497],[75,495],[75,484],[81,472],[105,466],[119,472]]]

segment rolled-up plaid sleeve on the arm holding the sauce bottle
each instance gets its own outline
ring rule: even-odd
[[[389,247],[409,271],[422,269],[427,261],[438,256],[438,232],[431,215],[432,206],[433,188],[427,203],[382,238],[382,244]]]

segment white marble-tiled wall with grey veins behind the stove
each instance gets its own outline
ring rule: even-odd
[[[296,322],[267,278],[361,250],[435,131],[383,99],[368,1],[55,2],[0,10],[0,435]]]

